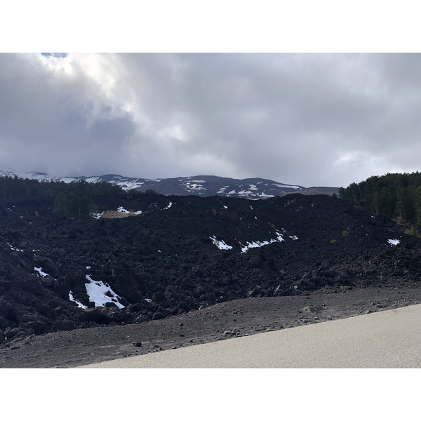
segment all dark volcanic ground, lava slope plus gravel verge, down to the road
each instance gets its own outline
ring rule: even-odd
[[[75,366],[419,302],[420,239],[334,197],[94,203],[88,220],[59,218],[53,199],[1,203],[0,366]],[[31,344],[50,354],[30,359]]]

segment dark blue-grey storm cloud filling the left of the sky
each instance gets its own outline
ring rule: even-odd
[[[56,175],[119,169],[121,144],[135,131],[131,116],[114,116],[80,69],[65,76],[34,55],[0,59],[2,166]]]

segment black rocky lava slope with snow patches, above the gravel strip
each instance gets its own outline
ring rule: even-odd
[[[123,195],[95,207],[80,221],[53,215],[53,199],[1,202],[0,342],[237,298],[419,284],[419,239],[330,196]],[[100,215],[118,209],[137,215]]]

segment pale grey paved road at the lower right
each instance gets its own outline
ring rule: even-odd
[[[421,368],[421,305],[81,368]]]

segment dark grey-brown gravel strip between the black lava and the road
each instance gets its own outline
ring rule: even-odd
[[[0,346],[0,368],[84,366],[420,302],[421,288],[350,287],[234,300],[168,319],[17,338]]]

